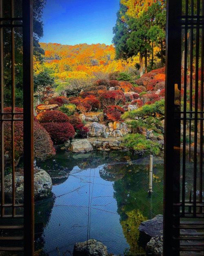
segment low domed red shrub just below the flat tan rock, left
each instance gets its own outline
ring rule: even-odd
[[[68,116],[58,110],[41,112],[40,114],[38,114],[36,118],[40,123],[69,121]]]

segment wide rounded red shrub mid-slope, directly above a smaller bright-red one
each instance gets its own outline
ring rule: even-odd
[[[100,95],[100,102],[103,106],[113,106],[125,103],[125,96],[122,91],[107,91]]]

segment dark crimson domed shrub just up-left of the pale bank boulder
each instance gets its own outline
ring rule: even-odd
[[[42,125],[55,145],[64,143],[75,136],[74,127],[69,122],[47,122]]]

